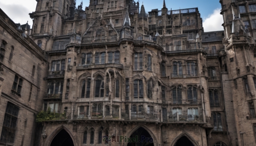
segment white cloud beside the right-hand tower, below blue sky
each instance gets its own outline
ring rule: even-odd
[[[203,19],[204,32],[224,30],[221,26],[224,22],[220,10],[220,8],[215,9],[212,14]]]

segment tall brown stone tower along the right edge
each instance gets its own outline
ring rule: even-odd
[[[220,0],[224,19],[224,50],[219,52],[222,67],[225,112],[233,146],[255,146],[255,3]]]

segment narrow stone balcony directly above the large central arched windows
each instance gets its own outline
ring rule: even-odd
[[[82,65],[79,64],[79,66],[76,66],[77,70],[86,70],[86,69],[100,69],[100,68],[105,68],[105,67],[116,67],[119,69],[123,69],[122,64],[117,64],[117,63],[105,63],[105,64],[90,64],[90,65]]]

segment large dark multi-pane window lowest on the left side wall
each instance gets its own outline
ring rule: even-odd
[[[14,143],[18,113],[19,108],[17,106],[12,103],[7,103],[0,141]]]

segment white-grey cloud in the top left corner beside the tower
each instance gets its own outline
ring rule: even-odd
[[[36,0],[0,0],[0,8],[15,22],[32,27],[33,21],[29,13],[35,11]]]

